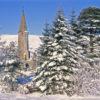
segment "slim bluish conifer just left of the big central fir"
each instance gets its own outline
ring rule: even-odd
[[[51,34],[51,28],[50,25],[46,22],[45,27],[43,29],[42,35],[40,37],[42,44],[40,45],[39,49],[37,50],[37,65],[41,66],[44,61],[46,60],[46,57],[48,55],[48,42],[50,41],[49,35]]]

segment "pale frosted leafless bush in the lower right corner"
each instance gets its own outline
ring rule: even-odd
[[[79,96],[100,95],[100,60],[90,59],[81,62],[76,74],[76,94]]]

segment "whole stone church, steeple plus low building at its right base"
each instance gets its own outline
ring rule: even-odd
[[[25,65],[28,65],[35,69],[37,66],[35,51],[34,53],[32,53],[32,57],[30,57],[30,54],[31,52],[29,50],[29,32],[27,31],[26,18],[23,11],[18,31],[18,57]]]

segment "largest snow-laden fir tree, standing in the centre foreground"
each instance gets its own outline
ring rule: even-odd
[[[79,63],[76,45],[73,42],[73,31],[66,23],[62,10],[57,13],[52,26],[52,34],[49,37],[51,39],[46,43],[46,59],[41,67],[37,68],[33,81],[43,93],[72,95],[74,93],[74,69],[79,66]]]

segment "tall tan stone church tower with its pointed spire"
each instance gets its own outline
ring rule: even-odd
[[[21,60],[26,61],[29,59],[29,41],[24,11],[18,32],[18,54]]]

